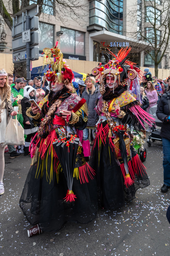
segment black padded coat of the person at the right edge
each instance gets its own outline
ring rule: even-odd
[[[169,94],[169,95],[168,95]],[[170,98],[170,93],[162,94],[160,101],[157,105],[156,115],[160,121],[162,121],[160,136],[165,139],[170,140],[170,122],[166,122],[165,118],[170,115],[168,109],[168,97]]]

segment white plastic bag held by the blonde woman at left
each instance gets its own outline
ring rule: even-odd
[[[16,119],[12,119],[12,116],[10,117],[10,121],[6,127],[6,134],[5,134],[5,142],[2,143],[2,147],[5,145],[24,145],[24,129],[21,126],[21,124],[17,120],[17,116],[15,116]]]

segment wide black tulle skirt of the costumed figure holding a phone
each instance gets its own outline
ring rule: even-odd
[[[42,162],[42,159],[39,158],[38,165],[31,166],[29,170],[19,201],[27,220],[32,225],[40,223],[43,231],[57,231],[67,221],[91,222],[97,211],[95,178],[91,179],[88,172],[86,173],[88,183],[81,184],[79,179],[73,178],[72,191],[77,198],[73,202],[66,202],[64,198],[68,187],[63,171],[60,171],[57,176],[56,172],[52,170],[53,177],[49,182],[51,155],[45,153],[44,159],[47,159],[47,171],[45,161]],[[52,159],[52,161],[54,160]],[[41,170],[37,175],[39,169]]]

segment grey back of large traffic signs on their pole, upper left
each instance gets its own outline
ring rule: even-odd
[[[31,79],[31,60],[38,60],[38,7],[31,4],[15,13],[12,26],[13,63],[26,61],[27,79]]]

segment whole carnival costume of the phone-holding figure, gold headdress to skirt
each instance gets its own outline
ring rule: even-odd
[[[97,188],[94,171],[85,162],[83,148],[76,135],[77,129],[86,127],[86,102],[67,88],[74,75],[65,64],[57,45],[52,49],[45,48],[44,53],[45,63],[50,64],[45,78],[55,82],[56,87],[64,83],[64,88],[56,93],[51,90],[39,103],[41,114],[33,115],[31,109],[27,110],[28,116],[32,115],[35,121],[40,120],[41,123],[37,138],[30,148],[32,166],[19,204],[32,225],[40,223],[42,230],[51,231],[59,230],[67,221],[92,221],[97,210]],[[61,109],[71,111],[66,127]],[[74,142],[75,145],[77,143],[77,150],[71,148]],[[57,144],[61,144],[63,155],[55,150]],[[65,151],[62,151],[64,147]],[[75,162],[67,159],[72,150],[74,153],[76,151]],[[73,166],[71,185],[65,176],[66,169],[70,167],[65,166],[67,161]]]

